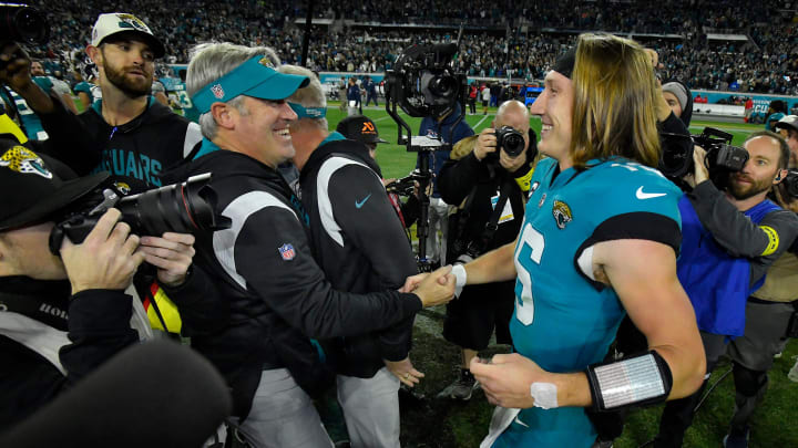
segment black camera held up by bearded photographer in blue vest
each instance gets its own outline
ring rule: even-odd
[[[693,173],[693,146],[698,145],[706,150],[704,159],[709,177],[715,186],[723,188],[729,173],[736,173],[748,162],[748,152],[732,146],[734,136],[713,127],[705,127],[699,135],[689,137],[678,134],[663,133],[663,156],[659,171],[671,179],[681,179]]]

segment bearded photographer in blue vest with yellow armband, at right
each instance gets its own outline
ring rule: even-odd
[[[794,212],[767,199],[771,186],[787,176],[789,148],[777,134],[757,132],[744,143],[748,160],[738,173],[720,171],[727,186],[718,189],[696,147],[692,191],[679,200],[682,256],[678,278],[695,310],[712,373],[729,338],[743,336],[746,299],[764,281],[768,267],[798,233]],[[665,406],[656,447],[679,447],[704,387]]]

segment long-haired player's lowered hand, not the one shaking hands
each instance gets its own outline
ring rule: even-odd
[[[532,407],[534,398],[530,395],[530,386],[535,382],[548,383],[548,372],[518,353],[494,355],[490,364],[474,357],[470,368],[488,402],[501,407]]]

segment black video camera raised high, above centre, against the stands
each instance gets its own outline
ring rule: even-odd
[[[410,116],[450,113],[466,91],[467,77],[454,72],[454,43],[412,45],[386,72],[386,93]]]

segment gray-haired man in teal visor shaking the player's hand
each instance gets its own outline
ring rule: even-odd
[[[308,397],[325,379],[309,337],[391,326],[448,301],[453,280],[440,270],[413,293],[369,294],[341,293],[325,280],[305,232],[309,218],[276,170],[295,154],[297,115],[285,98],[308,77],[276,65],[268,48],[231,43],[198,45],[188,65],[205,137],[188,175],[213,171],[214,211],[231,220],[229,229],[197,236],[196,264],[226,312],[195,327],[192,345],[228,382],[234,423],[248,442],[315,448],[331,441]]]

